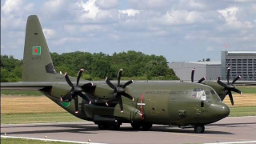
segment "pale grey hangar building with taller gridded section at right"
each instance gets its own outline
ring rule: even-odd
[[[194,68],[194,81],[202,77],[226,80],[226,69],[230,67],[230,82],[240,75],[243,81],[256,81],[256,51],[222,51],[221,62],[170,62],[169,67],[183,81],[191,80]]]

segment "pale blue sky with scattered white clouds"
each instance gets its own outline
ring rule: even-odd
[[[167,62],[256,50],[255,0],[1,0],[1,54],[22,59],[38,15],[50,52],[140,51]]]

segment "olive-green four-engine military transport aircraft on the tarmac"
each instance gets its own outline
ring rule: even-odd
[[[203,133],[206,124],[230,114],[216,91],[205,84],[191,82],[89,82],[58,74],[54,70],[46,39],[36,15],[26,24],[22,82],[1,83],[2,89],[39,90],[70,114],[98,125],[99,129],[118,129],[130,123],[139,130],[152,124],[193,126]],[[229,91],[229,90],[228,90]]]

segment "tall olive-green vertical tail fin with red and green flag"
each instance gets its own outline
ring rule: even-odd
[[[56,74],[38,16],[26,22],[22,82],[50,82]]]

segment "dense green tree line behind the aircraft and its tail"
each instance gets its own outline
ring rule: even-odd
[[[133,50],[112,55],[89,52],[51,53],[57,72],[68,72],[76,76],[84,69],[83,79],[102,80],[106,76],[117,79],[118,70],[122,69],[122,79],[135,80],[177,80],[167,64],[166,58],[154,54],[147,55]],[[1,55],[1,82],[18,82],[22,78],[22,60],[13,56]]]

